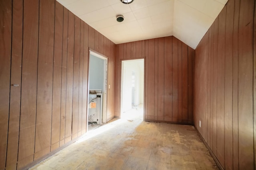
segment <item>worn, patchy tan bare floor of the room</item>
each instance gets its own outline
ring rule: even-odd
[[[139,111],[137,111],[139,112]],[[216,170],[193,126],[145,122],[134,112],[102,125],[31,170]]]

